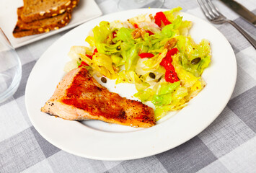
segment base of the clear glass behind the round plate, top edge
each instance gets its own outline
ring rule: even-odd
[[[141,9],[141,8],[160,8],[164,4],[164,0],[120,0],[118,8],[126,9]]]

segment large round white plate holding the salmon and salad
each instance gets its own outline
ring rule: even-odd
[[[229,101],[237,79],[234,52],[219,30],[185,13],[181,13],[184,19],[193,22],[190,34],[195,42],[208,39],[213,56],[211,65],[203,73],[207,82],[205,89],[175,116],[167,115],[169,118],[154,127],[138,129],[92,120],[84,125],[40,112],[40,107],[50,98],[64,75],[63,67],[69,61],[69,49],[72,45],[85,45],[84,39],[89,30],[102,20],[125,20],[161,10],[164,9],[135,9],[94,19],[63,35],[45,51],[32,69],[25,93],[28,115],[43,138],[64,151],[90,159],[138,159],[179,146],[216,119]],[[135,92],[129,84],[114,86],[111,81],[107,82],[110,91],[123,97],[131,98]]]

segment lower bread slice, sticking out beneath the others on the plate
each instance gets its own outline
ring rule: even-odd
[[[18,21],[17,25],[12,32],[14,37],[24,37],[27,35],[35,35],[43,32],[49,32],[50,30],[58,30],[61,27],[66,26],[70,19],[71,13],[64,12],[55,17],[49,17],[47,19],[40,19],[34,22],[23,22],[20,15],[23,7],[17,9]]]

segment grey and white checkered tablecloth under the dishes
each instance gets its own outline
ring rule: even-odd
[[[96,0],[103,14],[118,12],[118,0]],[[239,0],[256,14],[255,0]],[[256,28],[220,1],[223,14],[252,37]],[[166,0],[163,8],[206,19],[195,0]],[[97,161],[56,148],[37,133],[25,108],[28,76],[43,52],[64,33],[17,48],[22,81],[0,104],[0,172],[256,172],[256,50],[229,24],[214,25],[229,40],[237,58],[237,84],[221,115],[202,133],[169,151],[130,161]]]

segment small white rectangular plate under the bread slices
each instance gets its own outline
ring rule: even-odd
[[[72,12],[72,19],[69,22],[69,25],[61,27],[59,30],[52,30],[39,35],[15,38],[12,35],[12,31],[17,22],[17,8],[19,6],[23,6],[22,0],[1,0],[0,2],[0,27],[4,30],[4,33],[9,38],[14,48],[19,48],[22,45],[27,45],[45,37],[49,37],[50,35],[55,35],[58,32],[68,30],[71,27],[76,27],[81,23],[87,22],[89,19],[94,19],[95,17],[100,17],[102,15],[102,12],[94,0],[81,0],[79,1],[79,5],[76,6]]]

